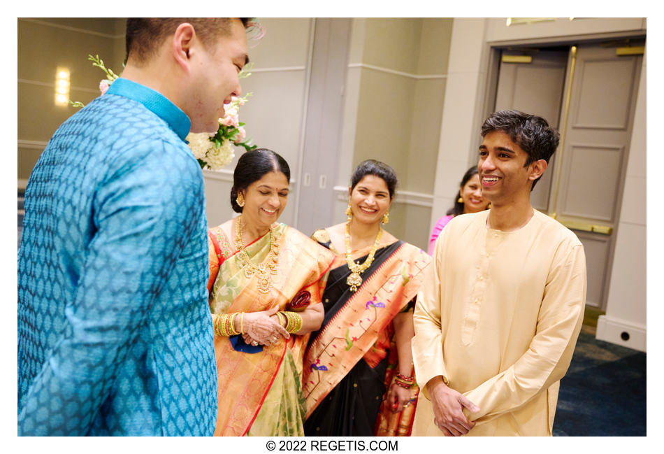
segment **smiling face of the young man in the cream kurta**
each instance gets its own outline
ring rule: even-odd
[[[479,146],[479,180],[482,195],[496,204],[511,204],[520,197],[530,199],[533,180],[536,180],[547,163],[544,159],[526,166],[528,153],[502,131],[488,132]]]

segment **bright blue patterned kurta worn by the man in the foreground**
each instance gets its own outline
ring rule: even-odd
[[[203,176],[187,115],[118,79],[59,127],[25,193],[20,435],[212,435]]]

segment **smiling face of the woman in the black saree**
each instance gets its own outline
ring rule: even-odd
[[[348,188],[353,220],[364,224],[380,222],[392,201],[385,180],[380,176],[366,175],[353,188]]]

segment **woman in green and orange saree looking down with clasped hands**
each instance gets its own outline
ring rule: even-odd
[[[210,229],[210,309],[218,407],[215,435],[302,436],[302,356],[323,320],[329,250],[277,222],[290,170],[277,153],[245,152],[233,173],[240,213]]]

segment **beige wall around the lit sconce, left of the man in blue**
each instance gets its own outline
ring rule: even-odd
[[[55,106],[55,71],[71,71],[70,99],[87,103],[99,96],[103,71],[87,61],[99,54],[119,73],[124,59],[122,19],[19,18],[18,33],[18,168],[24,187],[55,129],[78,109]]]

